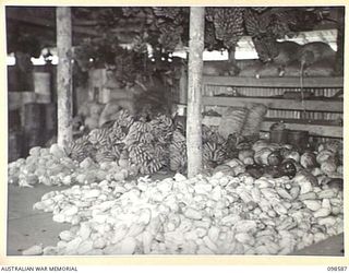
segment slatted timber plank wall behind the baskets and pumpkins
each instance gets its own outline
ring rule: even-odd
[[[290,130],[308,130],[314,138],[342,138],[342,78],[304,78],[303,94],[312,94],[303,102],[285,94],[301,94],[299,78],[204,76],[203,110],[221,114],[226,107],[249,107],[264,104],[268,111],[261,131],[284,121]],[[207,126],[218,126],[219,117],[205,116]]]

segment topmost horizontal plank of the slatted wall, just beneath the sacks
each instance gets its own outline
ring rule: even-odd
[[[293,87],[300,88],[299,78],[243,78],[243,76],[212,76],[204,75],[205,85],[220,86],[256,86],[256,87]],[[304,78],[303,87],[342,87],[342,76]]]

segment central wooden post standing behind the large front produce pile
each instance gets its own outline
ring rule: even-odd
[[[204,51],[205,8],[190,8],[186,155],[188,177],[202,170],[202,78]]]

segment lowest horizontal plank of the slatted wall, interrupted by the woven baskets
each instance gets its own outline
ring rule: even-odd
[[[205,116],[203,117],[203,123],[206,126],[219,126],[221,117]],[[261,130],[269,131],[273,123],[284,120],[286,128],[290,130],[304,130],[309,131],[310,135],[316,136],[328,136],[328,138],[342,138],[342,127],[339,124],[333,124],[328,122],[304,122],[303,120],[297,119],[277,119],[277,118],[265,118]]]

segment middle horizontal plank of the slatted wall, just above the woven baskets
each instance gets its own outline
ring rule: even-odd
[[[285,109],[285,110],[303,110],[301,102],[296,99],[274,98],[274,97],[222,97],[222,96],[204,96],[203,105],[219,105],[219,106],[240,106],[246,104],[264,104],[268,108]],[[324,99],[306,99],[304,100],[306,110],[313,111],[332,111],[342,112],[342,100],[324,100]]]

